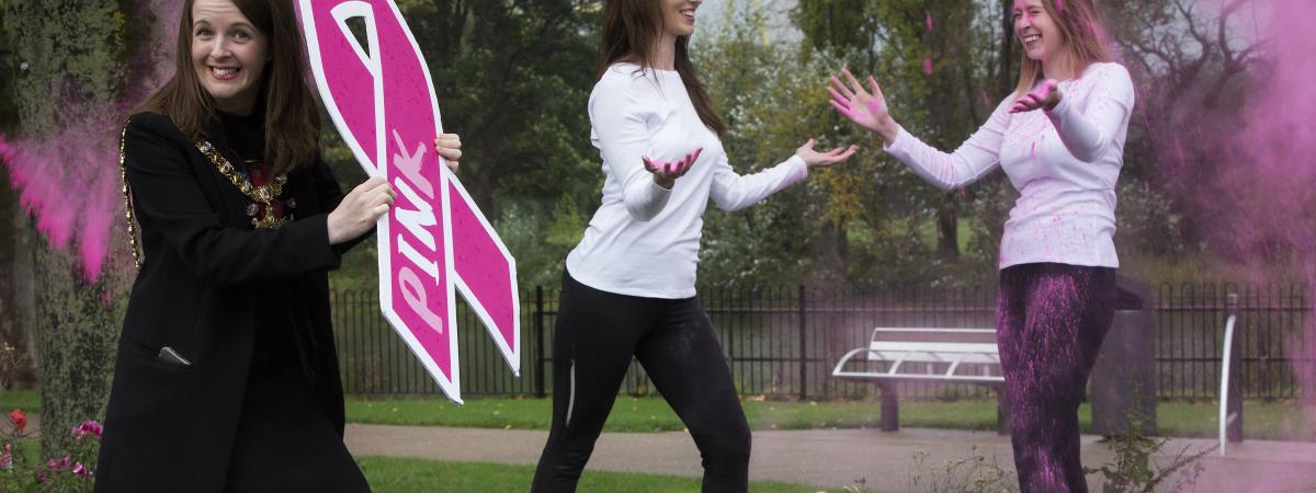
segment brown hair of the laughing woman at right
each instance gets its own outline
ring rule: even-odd
[[[1063,35],[1066,57],[1074,70],[1074,76],[1083,75],[1088,66],[1098,62],[1113,62],[1111,50],[1107,47],[1105,32],[1101,29],[1101,16],[1096,11],[1092,0],[1065,0],[1065,7],[1055,8],[1051,0],[1042,0],[1042,9],[1055,20]],[[1023,96],[1042,79],[1042,62],[1028,58],[1023,53],[1023,62],[1019,67],[1019,85],[1015,95]]]

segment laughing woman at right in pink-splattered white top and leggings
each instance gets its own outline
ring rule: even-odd
[[[1016,0],[1016,92],[951,154],[891,117],[876,80],[832,78],[832,105],[941,189],[996,167],[1020,192],[1000,246],[996,339],[1024,492],[1086,492],[1078,406],[1115,309],[1115,181],[1133,83],[1091,0]]]

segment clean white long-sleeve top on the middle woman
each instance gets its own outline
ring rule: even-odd
[[[675,71],[616,63],[590,93],[590,141],[603,156],[603,204],[567,255],[576,281],[617,294],[695,296],[695,270],[708,199],[738,210],[808,176],[791,156],[741,176],[717,134],[704,126]],[[704,151],[672,188],[658,187],[642,156],[679,160]]]

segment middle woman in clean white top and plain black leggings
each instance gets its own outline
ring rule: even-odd
[[[772,168],[728,164],[687,55],[696,0],[609,0],[590,95],[603,204],[571,254],[553,342],[553,427],[534,492],[575,490],[632,356],[690,429],[704,490],[744,492],[749,427],[712,323],[695,298],[704,209],[738,210],[844,162],[807,142]]]

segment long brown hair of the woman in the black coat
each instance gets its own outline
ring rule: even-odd
[[[215,99],[192,67],[192,4],[193,0],[183,3],[174,78],[132,113],[163,114],[183,135],[195,141],[209,137],[205,128],[218,118],[218,113]],[[265,160],[274,175],[286,175],[315,162],[320,137],[320,112],[307,85],[309,63],[297,30],[296,11],[291,0],[233,0],[233,4],[270,38],[271,59],[261,80],[265,92],[261,97],[265,101]]]

